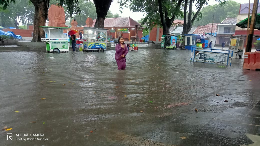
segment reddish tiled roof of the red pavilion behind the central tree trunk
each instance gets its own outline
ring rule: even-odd
[[[95,23],[96,23],[96,19],[93,20],[93,25],[92,27],[94,27]],[[104,28],[128,28],[128,27],[132,27],[135,28],[135,25],[138,25],[138,27],[140,27],[140,24],[136,21],[134,21],[132,18],[130,17],[125,17],[125,18],[106,18],[105,19],[105,23],[104,23]]]

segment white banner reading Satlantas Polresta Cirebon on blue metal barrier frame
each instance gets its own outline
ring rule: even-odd
[[[199,53],[195,55],[195,61],[215,64],[227,64],[228,54],[199,51]]]

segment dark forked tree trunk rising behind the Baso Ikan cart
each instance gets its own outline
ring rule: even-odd
[[[95,28],[104,28],[105,18],[113,0],[94,0],[97,11]]]

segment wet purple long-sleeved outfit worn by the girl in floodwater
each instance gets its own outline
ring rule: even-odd
[[[128,53],[128,49],[126,44],[124,44],[124,48],[121,47],[121,44],[117,44],[115,46],[115,60],[118,65],[118,69],[126,69],[126,54]],[[121,57],[121,55],[125,55],[125,57]]]

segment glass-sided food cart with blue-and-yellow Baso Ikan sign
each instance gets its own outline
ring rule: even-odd
[[[83,51],[104,52],[107,50],[107,29],[84,27]]]

